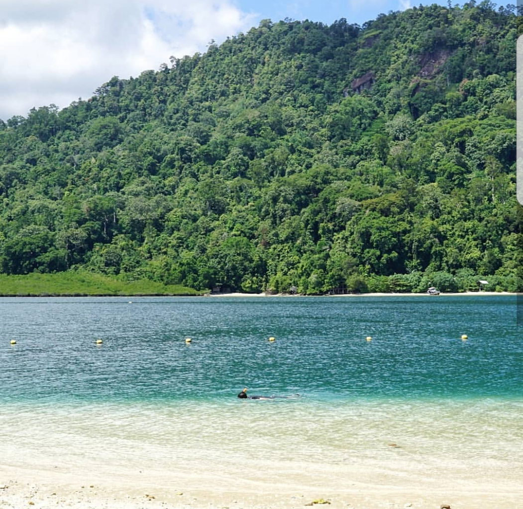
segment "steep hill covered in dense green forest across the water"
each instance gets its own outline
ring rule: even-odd
[[[1,272],[521,290],[513,10],[264,20],[0,122]]]

